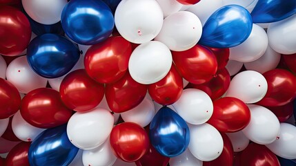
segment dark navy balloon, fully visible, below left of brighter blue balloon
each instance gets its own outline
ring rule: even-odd
[[[79,48],[66,37],[44,34],[35,37],[27,48],[28,62],[38,75],[47,78],[68,73],[80,57]]]

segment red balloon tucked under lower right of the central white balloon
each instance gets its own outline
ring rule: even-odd
[[[148,92],[158,104],[169,105],[176,102],[183,91],[183,78],[179,75],[175,65],[172,64],[170,71],[159,82],[148,85]]]

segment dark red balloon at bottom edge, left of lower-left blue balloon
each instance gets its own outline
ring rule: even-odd
[[[30,166],[28,159],[28,151],[31,142],[20,142],[15,146],[6,157],[6,165],[10,166]]]

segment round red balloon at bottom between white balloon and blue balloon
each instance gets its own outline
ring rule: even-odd
[[[149,137],[139,124],[124,122],[112,129],[110,145],[117,158],[126,162],[135,162],[148,151]]]

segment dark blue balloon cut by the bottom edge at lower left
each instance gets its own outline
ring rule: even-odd
[[[72,145],[66,132],[67,125],[46,129],[32,142],[28,159],[34,165],[69,165],[78,148]]]

